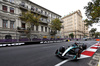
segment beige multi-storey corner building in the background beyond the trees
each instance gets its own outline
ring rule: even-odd
[[[82,21],[82,14],[80,10],[77,10],[62,18],[63,26],[62,35],[65,38],[71,38],[69,35],[74,34],[74,38],[83,38],[84,34],[88,32],[84,21]]]

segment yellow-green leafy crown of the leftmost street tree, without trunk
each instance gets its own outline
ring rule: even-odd
[[[40,21],[40,16],[38,16],[37,14],[34,15],[33,13],[31,13],[31,11],[27,11],[27,12],[22,12],[22,16],[20,17],[20,19],[22,21],[25,21],[29,27],[31,27],[31,25],[39,25],[39,21]]]

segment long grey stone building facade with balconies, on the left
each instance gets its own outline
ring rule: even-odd
[[[19,32],[18,28],[25,30],[26,22],[20,20],[19,16],[24,11],[30,10],[34,14],[41,15],[39,26],[33,25],[31,38],[50,38],[50,22],[55,19],[61,19],[61,16],[40,6],[30,0],[0,0],[0,39],[18,39],[25,38],[26,34]],[[10,36],[10,37],[7,37]],[[56,37],[61,37],[58,31]]]

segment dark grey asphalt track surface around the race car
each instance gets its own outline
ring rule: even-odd
[[[95,41],[82,41],[88,47]],[[55,56],[55,51],[61,46],[66,48],[74,42],[50,44],[35,44],[0,48],[0,66],[55,66],[64,61]],[[61,66],[88,66],[91,58],[68,61]]]

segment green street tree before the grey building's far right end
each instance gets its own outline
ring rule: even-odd
[[[60,31],[62,28],[61,21],[58,18],[52,20],[50,23],[50,28],[51,28],[51,35],[55,35],[57,33],[57,30]]]

